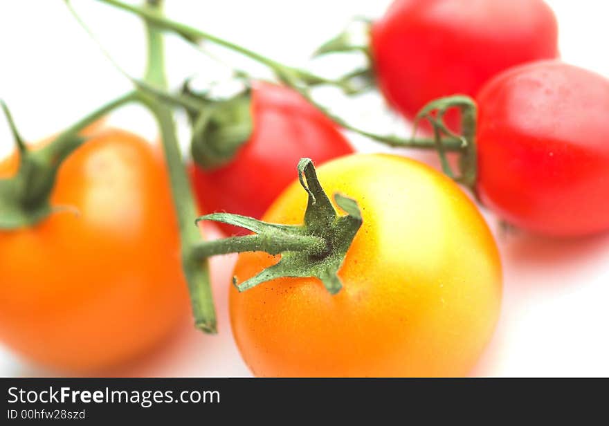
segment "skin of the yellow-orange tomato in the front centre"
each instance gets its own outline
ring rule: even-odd
[[[230,292],[233,333],[256,376],[465,376],[500,311],[496,243],[451,180],[414,160],[354,155],[318,169],[328,194],[361,208],[363,225],[330,295],[318,279],[282,278]],[[298,182],[264,216],[302,223]],[[336,206],[335,206],[336,207]],[[239,256],[239,282],[278,260]]]

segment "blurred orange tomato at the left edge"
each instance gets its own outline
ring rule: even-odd
[[[158,344],[188,313],[160,153],[125,131],[97,133],[60,167],[52,204],[68,210],[0,232],[0,340],[76,372]]]

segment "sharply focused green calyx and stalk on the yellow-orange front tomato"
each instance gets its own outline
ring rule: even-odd
[[[309,197],[302,225],[266,223],[238,214],[207,214],[197,219],[197,223],[228,223],[255,234],[202,241],[194,248],[194,256],[204,259],[216,254],[255,251],[281,254],[278,263],[241,284],[237,284],[237,277],[234,277],[233,284],[237,290],[248,290],[280,277],[316,277],[329,293],[338,293],[343,286],[338,270],[361,227],[361,212],[356,201],[338,193],[334,194],[334,202],[347,214],[340,216],[336,212],[310,158],[302,158],[298,163],[298,178]]]

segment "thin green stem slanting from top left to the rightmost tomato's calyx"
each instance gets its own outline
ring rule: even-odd
[[[309,91],[306,89],[307,85],[314,84],[333,84],[336,86],[340,86],[340,82],[336,82],[334,80],[328,80],[324,77],[320,77],[318,75],[314,75],[309,73],[308,71],[304,71],[298,68],[293,68],[291,66],[287,66],[281,64],[278,61],[270,59],[264,55],[260,55],[260,53],[256,53],[253,50],[249,50],[237,44],[234,44],[225,39],[221,39],[220,37],[216,37],[210,33],[206,33],[205,31],[198,30],[197,28],[192,28],[185,24],[181,24],[176,21],[172,21],[171,19],[167,19],[162,15],[158,15],[154,13],[154,11],[149,10],[148,8],[140,8],[138,6],[132,6],[128,3],[124,3],[120,0],[98,0],[103,3],[107,3],[111,6],[115,6],[122,10],[126,10],[127,12],[134,13],[145,19],[145,21],[153,24],[158,28],[162,28],[163,30],[170,30],[177,35],[180,35],[190,43],[197,44],[199,41],[207,40],[211,41],[214,44],[218,44],[219,46],[224,46],[225,48],[229,48],[230,50],[234,50],[246,57],[254,59],[261,64],[264,64],[271,68],[275,72],[276,75],[282,80],[285,84],[290,86],[292,89],[298,91],[301,95],[305,96],[311,104],[320,109],[322,113],[327,115],[331,120],[344,127],[347,130],[354,131],[355,133],[361,134],[367,138],[372,140],[376,140],[378,142],[382,142],[385,145],[390,145],[392,147],[410,147],[410,148],[419,148],[419,149],[436,149],[437,145],[435,144],[433,139],[415,139],[415,138],[399,138],[398,136],[386,136],[386,135],[377,135],[376,133],[371,133],[370,131],[365,131],[359,129],[358,127],[349,124],[343,118],[338,117],[334,113],[331,113],[327,108],[318,104],[311,95]],[[303,85],[305,88],[303,88]],[[444,143],[444,149],[446,151],[460,151],[462,149],[462,142],[455,138],[446,138],[446,143]]]

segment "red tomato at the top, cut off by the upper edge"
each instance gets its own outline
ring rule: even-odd
[[[436,98],[475,96],[511,66],[558,57],[557,38],[541,0],[397,0],[372,26],[371,48],[385,99],[412,119]],[[458,129],[458,113],[446,122]]]

